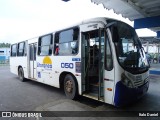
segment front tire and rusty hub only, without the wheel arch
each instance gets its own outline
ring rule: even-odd
[[[77,82],[75,78],[67,74],[64,78],[64,92],[69,99],[76,99],[78,93]]]

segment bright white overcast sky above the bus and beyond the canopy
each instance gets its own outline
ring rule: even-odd
[[[0,43],[27,40],[94,17],[110,17],[133,26],[133,22],[91,0],[0,0]],[[156,36],[148,29],[137,30],[137,34]]]

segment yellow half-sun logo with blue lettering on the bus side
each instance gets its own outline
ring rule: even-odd
[[[50,59],[50,57],[46,56],[44,59],[43,59],[43,63],[37,63],[37,67],[42,67],[42,68],[45,68],[45,69],[52,69],[52,60]]]

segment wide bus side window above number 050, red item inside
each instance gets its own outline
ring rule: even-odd
[[[79,28],[61,31],[55,34],[54,54],[74,55],[78,53]]]

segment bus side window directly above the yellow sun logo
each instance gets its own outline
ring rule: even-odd
[[[40,56],[51,55],[52,54],[52,51],[50,49],[51,44],[52,44],[52,34],[40,37],[38,41],[38,55]]]

